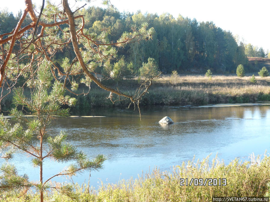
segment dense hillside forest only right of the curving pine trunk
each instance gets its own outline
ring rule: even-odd
[[[155,58],[165,73],[174,69],[184,72],[193,66],[203,65],[215,71],[231,72],[235,71],[236,64],[247,63],[245,44],[238,45],[232,33],[218,28],[212,22],[200,23],[183,16],[175,19],[169,13],[160,16],[141,12],[123,14],[95,7],[83,9],[80,14],[85,15],[85,28],[90,33],[100,34],[101,30],[106,29],[109,41],[119,38],[124,41],[130,36],[130,28],[144,31],[147,22],[151,36],[148,35],[140,43],[119,45],[125,48],[119,49],[118,53],[125,57],[127,63],[132,61],[136,69],[149,57]],[[153,40],[149,40],[151,38]],[[205,39],[204,45],[201,42]],[[226,70],[221,66],[226,66]]]

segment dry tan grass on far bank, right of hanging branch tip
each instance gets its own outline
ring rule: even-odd
[[[218,104],[270,101],[270,77],[164,76],[154,83],[142,104]]]

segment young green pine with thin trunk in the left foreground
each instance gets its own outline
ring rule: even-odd
[[[0,192],[15,193],[26,192],[34,188],[40,192],[40,201],[43,201],[43,193],[49,188],[69,196],[71,199],[78,198],[73,192],[73,187],[69,184],[59,187],[49,186],[48,182],[53,177],[61,175],[72,176],[85,170],[98,170],[102,168],[105,160],[103,155],[98,155],[95,159],[89,160],[82,151],[78,151],[75,146],[66,143],[67,134],[61,132],[58,136],[46,135],[46,129],[56,117],[67,117],[69,109],[61,108],[61,105],[72,106],[76,99],[64,96],[65,89],[63,83],[54,81],[52,84],[52,73],[50,64],[44,62],[37,70],[37,77],[32,82],[31,99],[26,98],[22,88],[14,90],[13,103],[24,106],[25,110],[32,116],[26,116],[22,110],[13,108],[10,116],[15,120],[15,124],[9,122],[2,114],[0,115],[0,149],[2,158],[6,160],[12,158],[13,153],[20,152],[32,156],[34,167],[40,168],[40,179],[36,183],[30,181],[26,174],[19,175],[15,165],[4,163],[0,168]],[[50,90],[49,90],[50,89]],[[26,128],[24,127],[26,126]],[[46,144],[44,143],[46,140]],[[5,153],[4,153],[5,152]],[[50,158],[56,162],[72,161],[67,169],[56,173],[52,177],[43,179],[43,161]]]

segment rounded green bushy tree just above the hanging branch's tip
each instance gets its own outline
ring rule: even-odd
[[[154,58],[148,58],[148,63],[143,63],[143,66],[140,68],[140,75],[146,79],[152,78],[159,74],[158,64]]]

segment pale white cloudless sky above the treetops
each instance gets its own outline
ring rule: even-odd
[[[42,0],[32,0],[37,5]],[[181,14],[190,19],[196,18],[198,22],[213,21],[217,27],[231,31],[238,35],[240,40],[262,47],[270,51],[270,26],[269,26],[269,0],[110,0],[120,11],[134,12],[141,10],[142,13],[170,13],[175,18]],[[60,4],[61,0],[51,0]],[[70,7],[75,10],[84,2],[69,0]],[[90,1],[88,6],[101,6],[101,0]],[[0,10],[7,8],[14,15],[19,9],[24,9],[24,0],[1,0]]]

